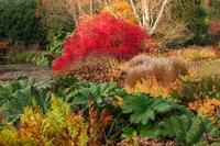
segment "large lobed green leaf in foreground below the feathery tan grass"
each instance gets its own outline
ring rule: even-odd
[[[132,123],[147,124],[155,121],[158,114],[166,114],[174,109],[169,102],[165,102],[162,98],[154,98],[151,94],[136,93],[131,94],[123,100],[122,112],[130,113]]]

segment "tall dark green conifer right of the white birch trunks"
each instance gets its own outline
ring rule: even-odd
[[[173,16],[194,33],[194,38],[185,42],[185,45],[209,44],[208,27],[209,19],[202,0],[177,0],[173,4]]]

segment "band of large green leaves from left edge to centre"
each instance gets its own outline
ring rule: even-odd
[[[89,98],[92,106],[101,110],[116,101],[113,96],[124,93],[117,85],[80,82],[70,76],[46,82],[19,78],[10,83],[0,85],[1,110],[8,121],[14,122],[23,113],[24,106],[32,106],[35,100],[44,114],[51,106],[51,92],[61,96],[73,110],[78,110],[80,106],[88,109]]]

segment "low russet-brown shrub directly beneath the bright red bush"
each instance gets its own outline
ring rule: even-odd
[[[76,60],[68,68],[57,71],[58,75],[73,75],[89,82],[123,82],[123,69],[110,57],[89,56],[85,60]],[[99,75],[99,76],[97,76]]]

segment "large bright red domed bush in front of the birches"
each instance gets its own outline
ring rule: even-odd
[[[129,59],[136,55],[144,41],[144,31],[109,14],[97,14],[77,27],[77,32],[64,44],[64,53],[53,63],[54,70],[67,67],[72,61],[88,55],[112,55]]]

